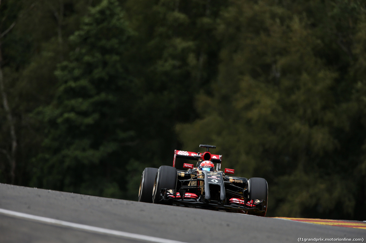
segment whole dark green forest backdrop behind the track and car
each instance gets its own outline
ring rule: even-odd
[[[0,0],[0,182],[137,200],[216,145],[268,216],[366,220],[366,3]]]

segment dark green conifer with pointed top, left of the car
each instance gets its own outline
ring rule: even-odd
[[[118,2],[104,0],[70,37],[55,99],[37,112],[47,136],[34,159],[33,185],[121,197],[135,140],[128,120],[134,81],[125,55],[131,35]]]

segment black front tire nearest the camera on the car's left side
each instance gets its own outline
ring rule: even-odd
[[[172,166],[160,166],[156,174],[153,189],[153,203],[160,203],[161,189],[175,190],[177,185],[177,169]]]

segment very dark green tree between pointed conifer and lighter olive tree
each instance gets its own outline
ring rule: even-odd
[[[133,111],[138,124],[135,170],[130,170],[130,198],[137,199],[141,168],[172,165],[181,145],[175,124],[193,121],[194,96],[206,92],[217,74],[220,43],[214,28],[226,0],[147,1],[124,4],[137,33],[131,49],[132,76],[139,99]],[[133,197],[132,197],[133,195]]]

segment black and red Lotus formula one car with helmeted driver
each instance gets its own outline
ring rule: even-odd
[[[234,177],[234,169],[220,171],[222,155],[211,154],[212,145],[200,144],[206,152],[174,151],[173,166],[145,168],[142,172],[139,201],[192,208],[265,216],[268,185],[263,178]],[[197,161],[175,168],[176,159]],[[216,169],[214,164],[216,163]]]

